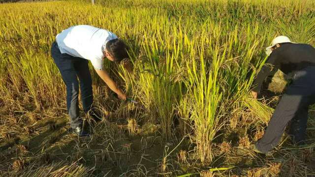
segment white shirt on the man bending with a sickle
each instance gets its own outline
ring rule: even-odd
[[[118,37],[105,29],[89,25],[78,25],[57,34],[56,42],[62,54],[89,59],[95,69],[102,70],[104,54],[102,46]]]

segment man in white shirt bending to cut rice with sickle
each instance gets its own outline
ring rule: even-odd
[[[56,36],[56,41],[52,44],[51,54],[66,85],[67,110],[71,120],[71,128],[78,136],[88,136],[89,133],[83,129],[82,120],[79,118],[78,79],[84,112],[86,114],[89,112],[95,120],[100,120],[92,109],[92,77],[88,61],[91,60],[96,73],[107,86],[120,99],[126,100],[126,94],[117,87],[103,68],[105,57],[115,62],[128,58],[126,44],[110,31],[88,25],[79,25],[65,29]]]

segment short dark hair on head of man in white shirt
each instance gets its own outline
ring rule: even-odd
[[[121,39],[112,39],[106,43],[106,50],[113,56],[115,62],[128,58],[127,46]]]

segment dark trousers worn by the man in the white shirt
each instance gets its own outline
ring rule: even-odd
[[[51,55],[63,77],[67,91],[67,111],[71,120],[71,127],[82,125],[79,118],[79,82],[83,110],[87,113],[93,103],[92,77],[89,70],[88,60],[72,57],[68,54],[61,54],[58,44],[53,42]]]

